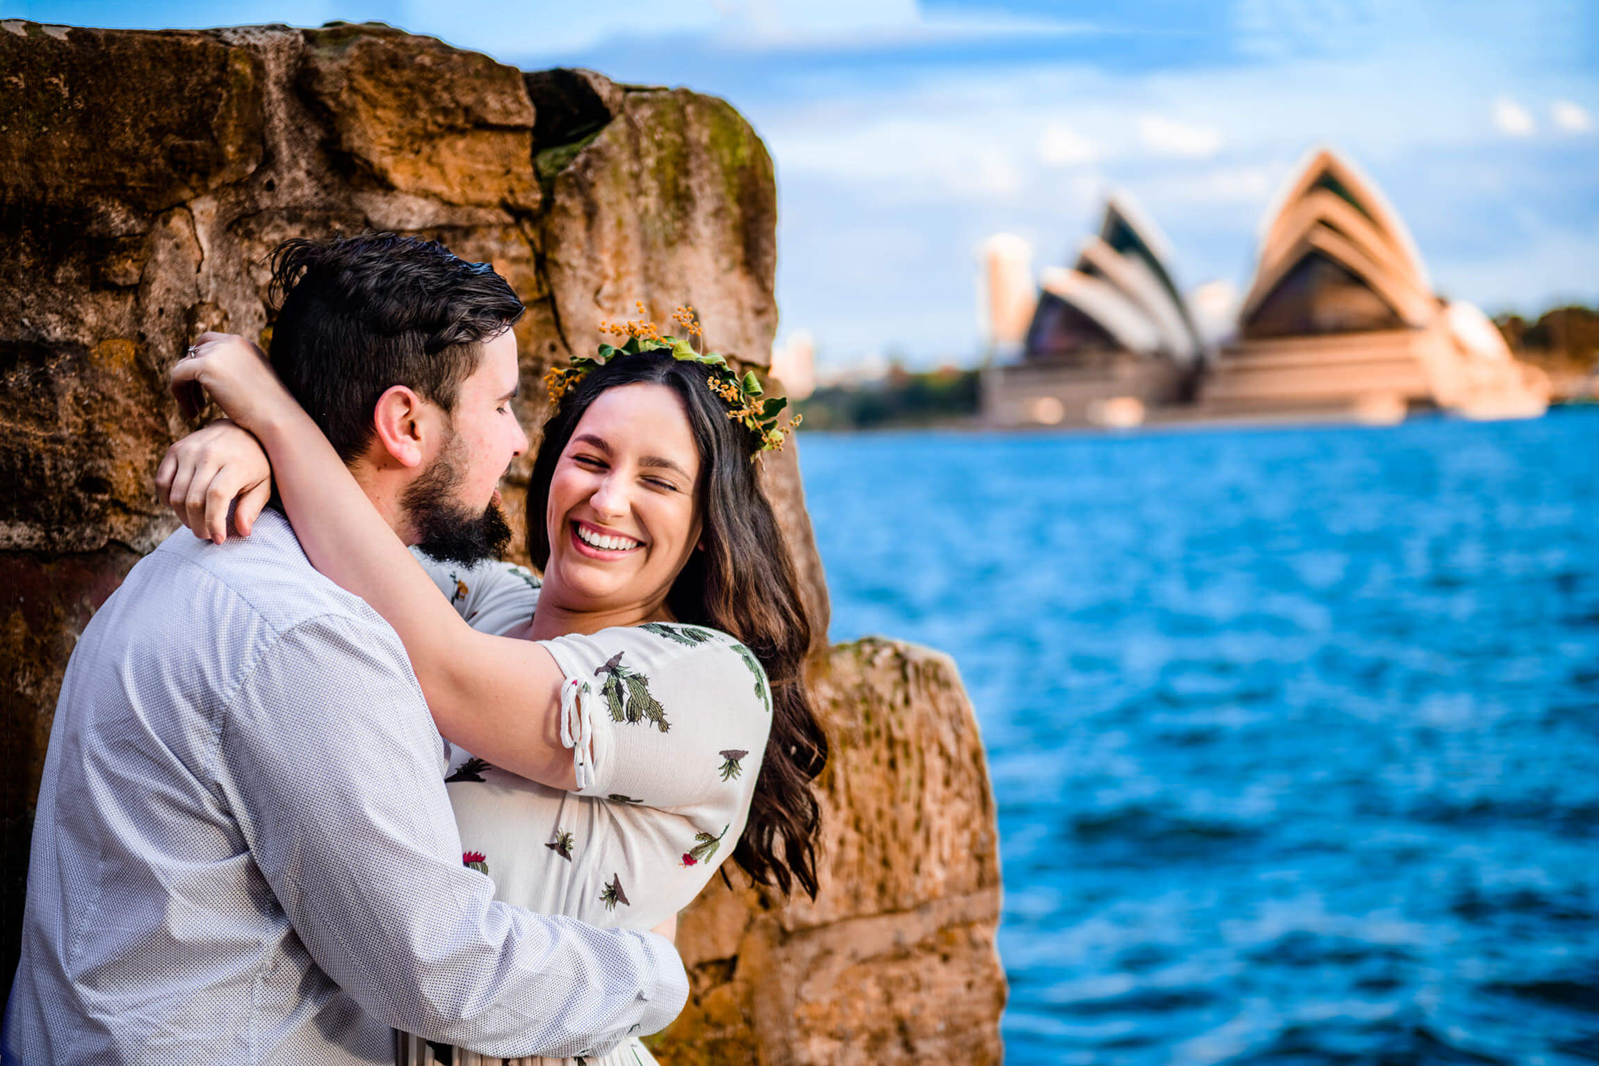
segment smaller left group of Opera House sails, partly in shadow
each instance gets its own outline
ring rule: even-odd
[[[1019,358],[983,376],[998,425],[1134,425],[1191,400],[1206,342],[1172,280],[1166,238],[1126,195],[1070,268],[1049,268]]]

